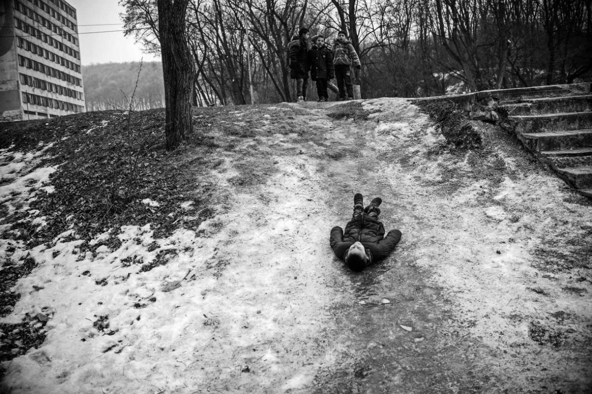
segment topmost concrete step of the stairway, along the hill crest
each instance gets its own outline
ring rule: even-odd
[[[525,100],[527,98],[561,97],[577,94],[590,94],[590,83],[571,85],[549,85],[529,88],[484,90],[477,92],[477,101],[492,97],[498,101]]]

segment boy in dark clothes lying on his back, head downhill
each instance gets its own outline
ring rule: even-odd
[[[372,262],[387,257],[401,240],[399,230],[390,230],[383,238],[384,225],[378,220],[381,203],[382,199],[377,197],[364,208],[363,196],[357,193],[353,197],[352,220],[345,226],[345,233],[339,226],[331,229],[329,243],[333,252],[353,271],[362,271]]]

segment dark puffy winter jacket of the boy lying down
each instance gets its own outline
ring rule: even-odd
[[[345,260],[345,253],[356,241],[360,241],[370,257],[370,263],[382,260],[395,249],[401,240],[399,230],[390,230],[384,236],[384,225],[375,217],[362,213],[357,219],[352,219],[345,226],[345,233],[339,226],[331,229],[329,244],[335,255]]]

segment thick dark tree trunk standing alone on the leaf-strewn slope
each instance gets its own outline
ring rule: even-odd
[[[165,79],[166,149],[176,149],[191,132],[195,65],[185,15],[189,0],[157,0],[162,72]]]

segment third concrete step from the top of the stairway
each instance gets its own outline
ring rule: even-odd
[[[592,127],[592,112],[509,116],[516,122],[516,133],[542,133],[556,130],[577,130]]]

